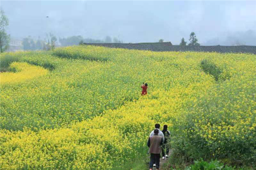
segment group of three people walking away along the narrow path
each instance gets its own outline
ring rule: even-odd
[[[155,125],[155,129],[150,133],[148,138],[148,153],[150,153],[150,170],[153,169],[153,166],[156,166],[156,169],[159,170],[160,167],[160,153],[162,152],[163,159],[168,158],[169,146],[168,138],[170,136],[169,130],[167,130],[167,125],[163,126],[163,130],[160,130],[160,124]],[[162,147],[161,147],[162,146]],[[165,155],[166,148],[166,155]]]

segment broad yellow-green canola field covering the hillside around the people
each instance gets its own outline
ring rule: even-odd
[[[255,55],[90,46],[12,55],[54,69],[1,84],[3,169],[111,169],[147,152],[156,122],[184,156],[256,162]],[[223,78],[206,74],[203,59]]]

